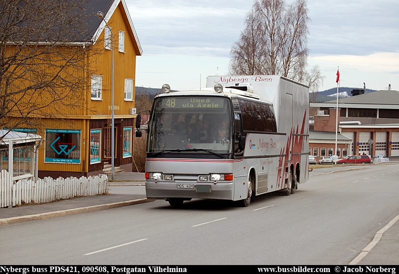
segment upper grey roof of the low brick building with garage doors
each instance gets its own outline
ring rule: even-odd
[[[379,90],[375,92],[369,92],[356,96],[340,98],[340,108],[387,108],[397,109],[399,108],[399,91],[397,90]],[[314,107],[336,107],[337,99],[313,103],[311,106]]]

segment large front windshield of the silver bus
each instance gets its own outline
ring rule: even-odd
[[[151,115],[147,152],[231,153],[234,140],[228,98],[159,97]]]

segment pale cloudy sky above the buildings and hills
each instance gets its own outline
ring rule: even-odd
[[[228,75],[230,49],[252,0],[125,0],[143,55],[136,86],[205,87]],[[289,4],[292,0],[286,0]],[[319,91],[340,86],[399,90],[398,0],[308,0],[309,68],[325,76]]]

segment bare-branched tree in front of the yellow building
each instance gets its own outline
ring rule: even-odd
[[[88,60],[98,53],[89,22],[99,18],[87,1],[1,1],[1,128],[37,129],[37,119],[82,113],[93,73]]]

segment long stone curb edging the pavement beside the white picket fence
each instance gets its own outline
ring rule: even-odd
[[[65,217],[65,216],[74,215],[74,214],[89,213],[89,212],[98,211],[98,210],[106,210],[106,209],[123,207],[123,206],[149,203],[149,202],[153,202],[153,201],[155,201],[155,199],[143,198],[143,199],[118,202],[118,203],[79,207],[79,208],[52,211],[52,212],[46,212],[46,213],[10,217],[10,218],[5,218],[5,219],[0,219],[0,227],[6,226],[6,225],[13,225],[13,224],[19,224],[19,223],[24,223],[24,222],[36,221],[36,220],[46,220],[46,219],[52,219],[52,218],[57,218],[57,217]]]

